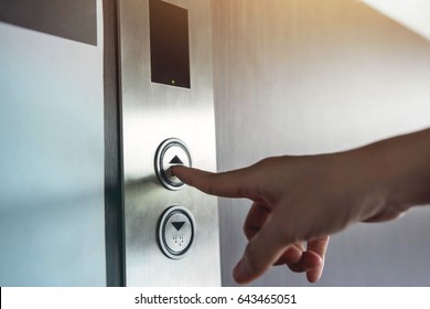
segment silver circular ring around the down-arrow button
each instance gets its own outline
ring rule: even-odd
[[[191,225],[191,236],[190,236],[190,242],[189,244],[181,251],[173,251],[172,248],[169,247],[168,242],[165,239],[165,228],[166,224],[169,223],[169,220],[176,215],[176,214],[182,214],[184,215]],[[162,253],[172,259],[181,259],[185,256],[185,254],[190,251],[190,248],[194,244],[194,237],[195,237],[196,228],[195,228],[195,221],[193,214],[185,207],[183,206],[171,206],[166,209],[163,214],[161,215],[159,223],[158,223],[158,242],[159,246],[162,251]]]

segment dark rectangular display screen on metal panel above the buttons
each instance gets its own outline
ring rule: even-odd
[[[160,0],[149,1],[151,82],[191,87],[189,12]]]

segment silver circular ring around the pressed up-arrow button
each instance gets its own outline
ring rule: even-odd
[[[185,184],[182,181],[178,181],[178,182],[171,181],[169,179],[170,168],[168,170],[163,169],[164,154],[171,147],[179,147],[184,151],[190,162],[189,168],[192,167],[192,159],[191,159],[190,150],[186,147],[185,142],[183,142],[179,138],[169,138],[164,140],[162,143],[160,143],[160,146],[158,147],[155,152],[155,160],[154,160],[155,174],[164,188],[175,191],[175,190],[181,190]]]

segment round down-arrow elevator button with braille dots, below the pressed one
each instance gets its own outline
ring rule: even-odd
[[[191,248],[195,234],[194,217],[182,206],[169,207],[161,215],[158,238],[165,256],[180,259]]]

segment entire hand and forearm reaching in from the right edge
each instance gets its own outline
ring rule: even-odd
[[[172,171],[208,194],[254,201],[236,281],[249,283],[272,265],[287,264],[314,283],[323,270],[326,235],[430,203],[429,157],[427,129],[345,152],[269,158],[224,173],[185,167]]]

